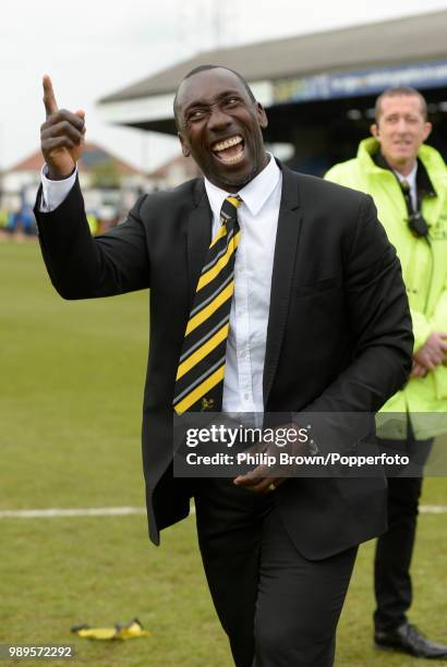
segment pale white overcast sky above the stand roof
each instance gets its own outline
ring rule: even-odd
[[[100,97],[216,46],[447,9],[447,0],[2,0],[0,8],[0,168],[38,148],[48,73],[59,106],[86,111],[88,140],[148,169],[177,151],[176,141],[105,123]]]

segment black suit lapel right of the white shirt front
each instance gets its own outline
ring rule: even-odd
[[[276,234],[274,270],[271,276],[270,308],[264,363],[264,405],[267,404],[279,360],[289,310],[290,290],[301,229],[299,208],[299,177],[281,166],[282,193]]]

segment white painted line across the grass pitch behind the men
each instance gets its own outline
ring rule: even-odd
[[[447,505],[421,505],[422,514],[445,514]],[[0,510],[0,519],[53,519],[64,517],[125,517],[130,514],[145,514],[144,507],[93,507],[85,509],[40,509],[40,510]],[[195,507],[191,507],[191,514],[195,514]]]

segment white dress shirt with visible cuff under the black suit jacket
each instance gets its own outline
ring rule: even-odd
[[[43,169],[40,210],[57,208],[74,185],[76,172],[50,181]],[[282,174],[273,156],[267,167],[240,190],[238,207],[241,241],[234,262],[234,298],[231,303],[224,380],[224,412],[264,412],[263,374],[270,307],[271,274],[278,228]],[[220,226],[220,209],[230,194],[205,179],[213,211],[213,237]]]

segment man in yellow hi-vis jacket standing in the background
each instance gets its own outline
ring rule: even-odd
[[[418,90],[389,88],[377,98],[375,111],[373,138],[326,178],[373,196],[402,264],[415,341],[413,369],[384,410],[407,413],[407,433],[388,434],[383,447],[407,453],[422,471],[433,436],[446,428],[439,416],[447,414],[447,169],[423,143],[432,125]],[[422,472],[413,478],[390,476],[388,484],[389,529],[375,557],[375,641],[378,647],[444,659],[447,646],[424,638],[407,618]]]

